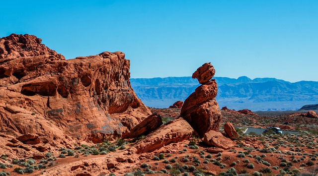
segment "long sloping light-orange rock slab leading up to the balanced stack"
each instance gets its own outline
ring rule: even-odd
[[[148,134],[145,138],[132,146],[136,153],[153,152],[170,143],[176,143],[189,139],[196,134],[191,125],[179,117],[160,126],[157,130]]]

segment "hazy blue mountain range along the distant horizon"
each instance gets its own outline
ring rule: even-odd
[[[238,79],[214,77],[218,83],[216,97],[220,108],[252,111],[298,110],[318,103],[318,82],[291,83],[276,78]],[[184,101],[200,85],[189,77],[130,78],[137,96],[148,107],[167,108],[178,100]]]

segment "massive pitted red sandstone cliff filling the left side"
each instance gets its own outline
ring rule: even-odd
[[[120,136],[151,114],[129,67],[122,52],[65,60],[35,36],[1,38],[0,132],[63,145]]]

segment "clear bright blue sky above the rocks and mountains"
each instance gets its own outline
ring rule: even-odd
[[[122,51],[131,77],[318,81],[318,0],[3,0],[0,37],[32,34],[67,59]]]

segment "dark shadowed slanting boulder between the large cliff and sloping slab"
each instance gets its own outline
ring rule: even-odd
[[[122,137],[135,138],[141,135],[147,135],[162,125],[160,115],[153,114],[144,119],[142,122],[133,127],[129,133],[124,134]]]

